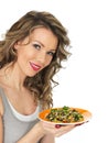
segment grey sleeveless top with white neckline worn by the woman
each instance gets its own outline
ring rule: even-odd
[[[37,114],[41,111],[41,108],[37,107],[33,114],[23,116],[12,107],[2,88],[0,88],[0,96],[4,108],[3,143],[17,143],[17,141],[23,138],[31,128],[39,122]]]

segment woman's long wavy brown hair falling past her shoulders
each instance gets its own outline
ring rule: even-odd
[[[30,11],[18,20],[10,30],[7,31],[4,40],[0,41],[0,68],[7,64],[17,62],[14,44],[30,36],[34,29],[44,26],[50,29],[58,40],[57,50],[51,64],[33,77],[26,77],[23,85],[40,100],[43,109],[53,107],[52,89],[58,85],[53,79],[54,75],[62,68],[62,61],[66,61],[71,54],[69,38],[66,29],[50,12]]]

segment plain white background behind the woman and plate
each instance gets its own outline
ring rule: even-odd
[[[3,0],[0,34],[29,10],[50,11],[68,30],[73,55],[56,76],[54,107],[91,111],[91,120],[56,139],[56,143],[108,143],[107,0]]]

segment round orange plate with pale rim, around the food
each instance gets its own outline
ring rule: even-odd
[[[60,109],[60,108],[52,108],[52,109]],[[71,122],[71,123],[51,122],[51,121],[47,121],[45,117],[51,112],[52,109],[46,109],[46,110],[43,110],[42,112],[40,112],[40,113],[39,113],[39,119],[40,119],[41,121],[44,121],[44,122],[47,122],[47,123],[63,124],[63,125],[64,125],[64,124],[80,124],[80,123],[84,123],[84,122],[89,121],[89,119],[91,118],[91,112],[90,112],[90,111],[85,110],[85,109],[80,109],[80,108],[73,108],[73,107],[71,107],[72,110],[75,109],[75,110],[77,110],[79,113],[83,114],[83,117],[84,117],[84,120],[83,120],[83,121],[79,121],[79,122]]]

